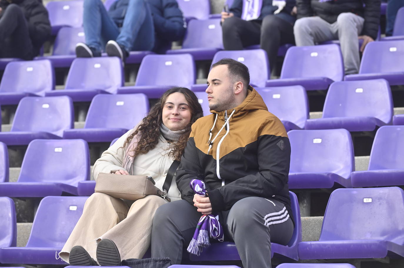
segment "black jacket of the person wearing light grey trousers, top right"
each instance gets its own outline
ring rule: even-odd
[[[297,18],[318,16],[328,23],[335,23],[339,14],[351,12],[365,19],[362,35],[377,37],[380,24],[381,0],[296,0]]]

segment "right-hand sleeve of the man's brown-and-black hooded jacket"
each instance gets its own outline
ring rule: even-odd
[[[282,124],[276,117],[270,118],[261,133],[271,133],[274,126]],[[285,132],[286,133],[286,132]],[[280,143],[280,141],[283,143]],[[277,143],[280,143],[278,145]],[[258,137],[257,160],[259,171],[247,175],[222,187],[208,191],[214,212],[229,210],[238,200],[259,196],[271,198],[288,183],[290,165],[290,143],[288,137],[260,135]]]

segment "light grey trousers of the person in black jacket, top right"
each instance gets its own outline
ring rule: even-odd
[[[317,42],[339,39],[345,74],[358,73],[358,35],[362,32],[363,23],[364,18],[350,12],[341,13],[332,24],[320,17],[298,19],[293,28],[296,46],[314,46]]]

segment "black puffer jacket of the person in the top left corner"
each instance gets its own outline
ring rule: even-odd
[[[6,0],[0,1],[0,7],[4,10],[10,3]],[[17,4],[23,10],[27,20],[29,37],[32,40],[33,56],[39,54],[39,50],[50,36],[50,22],[48,10],[39,0],[13,0],[12,4]]]

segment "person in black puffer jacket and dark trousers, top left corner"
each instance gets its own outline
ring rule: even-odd
[[[32,60],[49,36],[48,11],[42,1],[0,1],[0,58]]]

